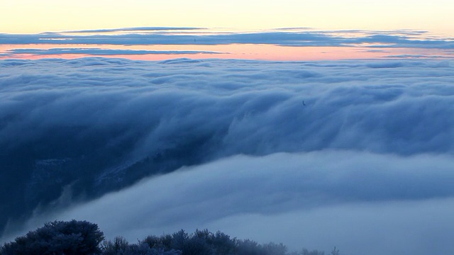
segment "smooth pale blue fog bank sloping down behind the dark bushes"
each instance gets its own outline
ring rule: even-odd
[[[292,249],[336,245],[352,255],[449,254],[453,165],[453,157],[429,154],[236,156],[141,181],[36,217],[28,227],[54,218],[83,219],[97,222],[109,238],[123,234],[131,241],[210,227]]]

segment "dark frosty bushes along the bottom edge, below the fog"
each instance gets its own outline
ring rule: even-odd
[[[72,220],[48,222],[44,227],[16,237],[0,246],[0,255],[324,255],[323,251],[287,252],[284,244],[258,244],[250,239],[231,238],[223,232],[180,230],[160,237],[150,235],[137,244],[123,237],[105,240],[94,223]],[[339,255],[336,247],[332,255]]]

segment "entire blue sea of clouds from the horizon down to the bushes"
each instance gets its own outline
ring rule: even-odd
[[[131,241],[209,228],[290,249],[450,254],[453,64],[0,61],[5,148],[84,127],[68,135],[133,141],[118,152],[120,169],[169,150],[178,152],[169,160],[193,158],[170,174],[37,213],[19,232],[75,218]]]

